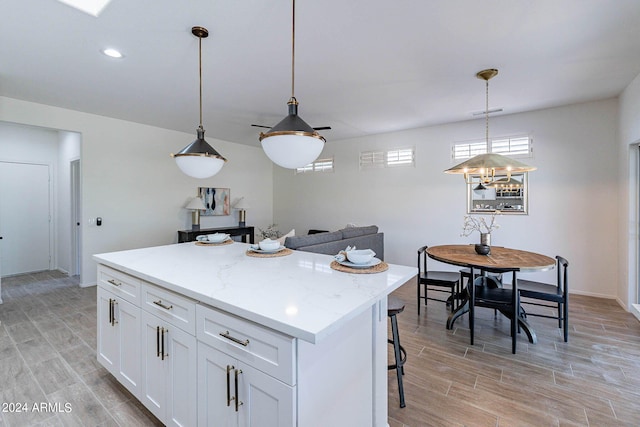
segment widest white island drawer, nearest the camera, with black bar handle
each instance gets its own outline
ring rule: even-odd
[[[295,339],[198,304],[196,338],[291,386],[296,385]]]

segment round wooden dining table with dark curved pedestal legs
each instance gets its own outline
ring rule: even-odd
[[[546,255],[501,246],[491,246],[489,255],[477,254],[474,245],[430,246],[427,248],[427,255],[436,261],[471,268],[472,271],[478,269],[480,272],[501,269],[517,269],[520,272],[545,271],[553,269],[556,265],[556,260]],[[467,298],[468,293],[463,292],[462,296]],[[447,329],[453,329],[455,320],[467,311],[469,311],[468,298],[449,314]],[[537,341],[535,331],[526,319],[519,317],[518,323],[527,334],[529,341],[535,343]]]

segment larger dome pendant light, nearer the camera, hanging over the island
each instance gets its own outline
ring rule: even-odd
[[[268,132],[260,133],[262,149],[271,161],[283,168],[295,169],[318,158],[326,140],[298,116],[298,101],[294,95],[296,1],[293,0],[291,37],[291,98],[287,102],[289,114]]]

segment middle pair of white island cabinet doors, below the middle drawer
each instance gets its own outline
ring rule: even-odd
[[[140,401],[165,425],[196,425],[196,338],[142,311]]]

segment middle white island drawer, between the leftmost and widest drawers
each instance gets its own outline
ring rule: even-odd
[[[196,334],[196,302],[149,283],[142,283],[142,308],[191,335]]]

